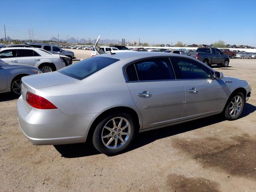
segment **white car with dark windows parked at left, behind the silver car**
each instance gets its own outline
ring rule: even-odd
[[[59,70],[66,66],[63,58],[43,49],[29,47],[1,48],[0,62],[11,64],[28,64],[39,68],[43,73]],[[68,57],[66,57],[68,58]]]

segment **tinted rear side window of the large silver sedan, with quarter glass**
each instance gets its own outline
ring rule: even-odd
[[[129,68],[130,67],[130,68]],[[168,80],[174,79],[174,72],[170,67],[168,58],[154,58],[136,62],[134,64],[136,75],[132,65],[126,68],[129,80]],[[138,75],[138,77],[136,77]]]

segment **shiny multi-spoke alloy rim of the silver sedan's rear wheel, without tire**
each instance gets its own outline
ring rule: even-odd
[[[130,138],[131,126],[126,118],[114,117],[102,129],[103,144],[110,149],[122,147]]]

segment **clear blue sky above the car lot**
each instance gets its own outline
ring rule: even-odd
[[[0,25],[11,38],[52,36],[149,43],[256,46],[256,0],[8,0]],[[3,28],[3,27],[2,27]],[[0,30],[0,37],[4,31]]]

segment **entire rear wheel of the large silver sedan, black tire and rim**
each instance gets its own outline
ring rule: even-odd
[[[126,150],[135,135],[135,124],[130,114],[112,114],[100,121],[92,136],[94,147],[112,156]]]

